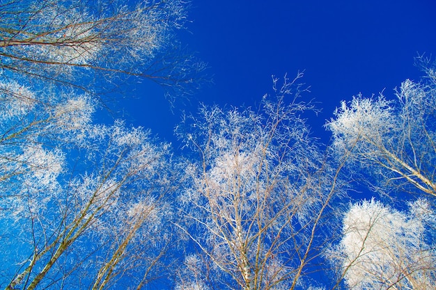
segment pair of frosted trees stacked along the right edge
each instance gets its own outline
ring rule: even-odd
[[[417,60],[426,72],[423,81],[407,79],[392,100],[354,97],[327,123],[338,156],[403,209],[373,200],[345,213],[341,243],[331,257],[342,265],[350,289],[436,284],[436,75],[428,59]]]

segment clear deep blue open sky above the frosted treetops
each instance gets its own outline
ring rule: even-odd
[[[171,141],[180,110],[196,111],[198,102],[255,106],[272,92],[272,74],[304,70],[305,97],[322,108],[309,124],[327,139],[322,124],[342,99],[382,90],[392,97],[401,81],[419,79],[414,57],[436,54],[435,11],[430,0],[193,0],[179,38],[208,63],[213,83],[171,113],[162,91],[144,81],[124,117]]]

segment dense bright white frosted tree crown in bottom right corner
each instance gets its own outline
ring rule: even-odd
[[[341,243],[330,257],[348,289],[433,289],[436,252],[428,243],[435,223],[428,202],[403,213],[375,200],[353,204],[343,218]]]

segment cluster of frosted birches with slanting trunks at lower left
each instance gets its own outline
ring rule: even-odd
[[[0,86],[1,287],[141,288],[169,243],[168,146],[93,124],[88,95]]]

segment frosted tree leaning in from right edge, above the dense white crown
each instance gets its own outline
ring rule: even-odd
[[[426,82],[407,79],[396,101],[353,97],[326,126],[339,155],[346,152],[385,184],[436,197],[436,77],[425,64]]]

